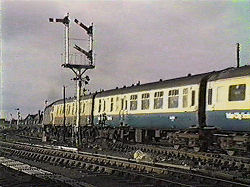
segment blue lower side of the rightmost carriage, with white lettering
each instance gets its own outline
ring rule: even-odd
[[[250,110],[206,111],[207,125],[221,130],[250,132]]]

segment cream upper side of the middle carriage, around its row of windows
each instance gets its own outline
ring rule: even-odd
[[[184,89],[186,89],[185,93],[183,93]],[[176,108],[168,107],[170,90],[178,90],[178,95],[174,95],[176,96],[176,98],[174,99],[178,100],[178,107]],[[193,98],[194,99],[193,106],[191,106],[192,105],[192,91],[195,94]],[[163,92],[162,108],[154,109],[155,92]],[[144,98],[145,100],[147,99],[149,100],[149,108],[144,109],[144,110],[142,109],[142,99],[143,99],[142,95],[143,94],[149,94],[148,98]],[[137,95],[137,99],[136,99],[137,109],[130,110],[130,105],[132,104],[130,99],[131,99],[131,96],[133,97],[134,95]],[[166,88],[166,89],[157,89],[157,90],[150,90],[150,91],[143,91],[143,92],[113,95],[113,96],[108,96],[108,97],[98,97],[95,99],[94,115],[100,115],[103,113],[106,113],[107,115],[119,115],[119,114],[124,114],[124,113],[125,114],[143,114],[143,113],[192,112],[192,111],[198,110],[198,97],[199,97],[199,85],[197,84],[182,86],[182,87],[173,87],[173,88]],[[112,98],[113,98],[113,102],[111,102]],[[123,100],[123,104],[122,104],[122,100]],[[183,107],[183,100],[186,100],[186,107]],[[105,109],[104,109],[104,102],[105,102]],[[127,109],[125,109],[125,105],[127,105]],[[111,108],[113,108],[113,110],[111,110]]]

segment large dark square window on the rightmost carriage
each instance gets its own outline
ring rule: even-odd
[[[238,84],[229,86],[228,101],[245,100],[246,84]]]

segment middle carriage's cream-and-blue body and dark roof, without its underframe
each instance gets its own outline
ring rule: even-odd
[[[94,122],[143,129],[178,130],[198,126],[199,121],[204,121],[199,111],[199,98],[205,97],[201,82],[209,74],[97,93]]]

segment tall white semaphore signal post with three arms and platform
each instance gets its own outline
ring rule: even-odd
[[[67,16],[65,16],[63,19],[54,19],[54,18],[49,18],[49,22],[60,22],[63,23],[65,26],[65,63],[62,64],[62,67],[64,68],[69,68],[71,69],[76,78],[75,80],[77,81],[77,98],[76,98],[76,125],[74,128],[74,134],[75,134],[75,143],[78,146],[79,143],[81,143],[81,137],[80,137],[80,93],[82,89],[82,81],[89,81],[88,76],[83,77],[83,74],[88,70],[88,69],[94,69],[95,66],[93,65],[93,23],[88,27],[84,25],[83,23],[79,22],[77,19],[74,20],[76,24],[78,24],[81,28],[83,28],[86,32],[87,35],[89,36],[89,51],[85,51],[81,47],[75,45],[74,48],[79,51],[80,53],[83,53],[87,59],[88,63],[87,64],[81,64],[81,63],[76,63],[73,64],[72,62],[69,61],[69,13],[67,13]],[[73,133],[73,132],[72,132]],[[73,134],[72,134],[73,136]]]

